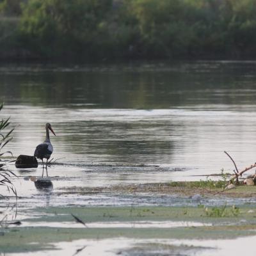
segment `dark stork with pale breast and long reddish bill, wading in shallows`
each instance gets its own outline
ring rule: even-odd
[[[54,134],[54,136],[56,136],[55,132],[52,130],[51,124],[46,123],[45,124],[45,131],[46,131],[45,141],[36,146],[35,153],[34,153],[35,157],[42,160],[42,164],[43,164],[42,177],[44,176],[44,158],[46,159],[45,170],[46,170],[46,174],[47,174],[47,177],[48,177],[47,164],[48,164],[48,160],[51,157],[51,154],[52,154],[52,151],[53,151],[52,143],[50,141],[50,136],[49,136],[49,130],[51,130],[51,132]]]

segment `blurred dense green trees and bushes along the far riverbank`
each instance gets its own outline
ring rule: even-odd
[[[0,56],[255,58],[255,0],[0,0]]]

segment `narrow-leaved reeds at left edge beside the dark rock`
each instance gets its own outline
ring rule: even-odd
[[[3,108],[3,103],[0,105],[0,111]],[[11,134],[14,130],[11,129],[8,132],[5,132],[6,127],[8,127],[8,125],[10,125],[10,117],[7,119],[2,119],[0,121],[0,157],[2,157],[4,154],[11,154],[11,151],[6,151],[6,152],[1,152],[4,148],[4,146],[7,145],[7,143],[9,143],[12,140]],[[1,159],[0,159],[1,161]],[[6,166],[6,163],[0,163],[0,186],[4,186],[8,192],[10,193],[12,191],[12,193],[17,197],[17,191],[15,189],[15,186],[12,183],[12,177],[17,177],[17,175],[15,175],[15,173],[13,173],[10,170],[6,170],[3,167]],[[4,197],[3,195],[0,195],[2,197]]]

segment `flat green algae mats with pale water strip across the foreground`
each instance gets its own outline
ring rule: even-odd
[[[234,239],[240,236],[254,236],[255,205],[244,205],[236,208],[237,210],[235,208],[225,205],[209,207],[210,214],[207,215],[204,207],[147,206],[134,207],[132,212],[131,207],[116,206],[38,207],[24,211],[24,220],[22,220],[24,225],[10,227],[10,230],[15,232],[6,232],[1,236],[0,248],[6,253],[17,253],[54,250],[58,242],[78,239],[88,239],[85,244],[90,244],[95,239],[99,246],[104,239],[119,237],[140,242],[140,239],[159,241],[159,239]],[[83,223],[76,223],[70,212],[86,221],[88,227],[84,227]],[[240,218],[243,218],[243,221],[239,221]],[[40,223],[47,223],[49,227],[41,227]],[[56,223],[59,225],[56,226]]]

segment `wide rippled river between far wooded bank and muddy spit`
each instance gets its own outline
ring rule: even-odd
[[[224,150],[240,169],[255,162],[255,70],[254,61],[2,63],[1,117],[16,127],[6,150],[33,155],[50,122],[54,191],[232,172]],[[23,178],[41,168],[9,168],[20,196],[37,195]]]

